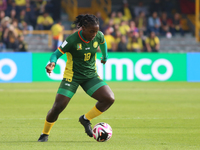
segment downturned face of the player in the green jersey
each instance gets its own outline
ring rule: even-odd
[[[88,41],[92,41],[97,35],[97,32],[99,31],[99,25],[89,25],[87,27],[83,26],[82,28],[83,37]]]

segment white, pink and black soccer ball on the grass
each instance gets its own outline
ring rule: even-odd
[[[112,136],[112,128],[104,122],[97,123],[92,131],[94,139],[98,142],[108,141]]]

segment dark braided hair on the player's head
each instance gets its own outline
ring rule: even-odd
[[[74,21],[74,24],[77,26],[77,28],[82,26],[87,27],[88,25],[98,25],[99,19],[94,15],[78,15]]]

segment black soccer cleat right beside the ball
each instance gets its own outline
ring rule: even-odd
[[[79,122],[84,126],[85,133],[87,133],[88,136],[93,137],[92,127],[89,120],[84,119],[84,115],[80,116]]]

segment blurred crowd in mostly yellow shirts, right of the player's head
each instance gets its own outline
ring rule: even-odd
[[[171,0],[153,0],[149,7],[139,2],[132,9],[126,0],[119,11],[113,11],[106,20],[100,20],[100,30],[104,33],[108,51],[158,52],[159,37],[171,38],[179,32],[184,36],[181,27],[181,16],[172,13],[174,6]]]

